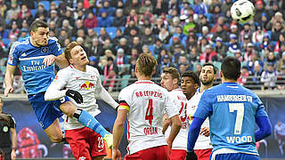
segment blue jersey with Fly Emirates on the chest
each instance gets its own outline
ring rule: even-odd
[[[36,47],[30,43],[28,36],[12,44],[8,64],[12,66],[19,64],[28,94],[45,92],[55,75],[54,64],[47,67],[43,64],[43,60],[48,55],[58,56],[62,52],[56,37],[49,37],[46,46]]]

